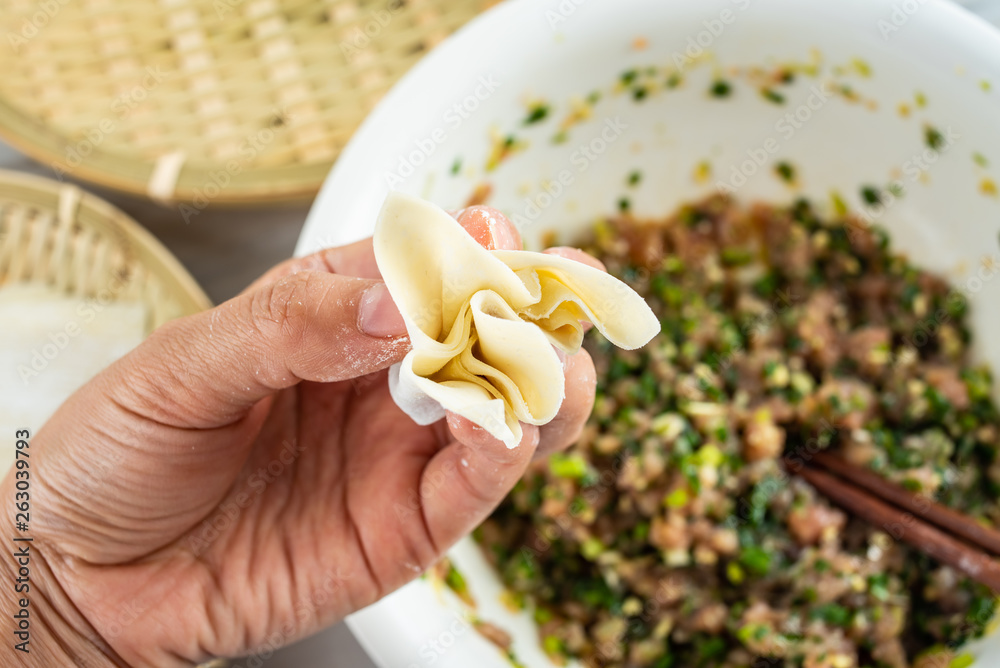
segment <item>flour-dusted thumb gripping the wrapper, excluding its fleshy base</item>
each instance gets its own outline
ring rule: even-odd
[[[208,429],[277,390],[380,371],[408,349],[384,283],[305,271],[165,325],[101,380],[143,417]]]

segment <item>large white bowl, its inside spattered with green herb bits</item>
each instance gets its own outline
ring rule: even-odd
[[[644,50],[637,38],[648,42]],[[684,60],[698,48],[714,61]],[[823,74],[782,87],[781,106],[728,73],[731,66],[806,61],[812,50],[822,55]],[[864,65],[851,64],[856,59],[870,77],[862,76]],[[607,94],[630,68],[671,64],[684,74],[676,90],[641,103]],[[846,73],[832,76],[835,65]],[[724,100],[707,92],[720,73],[733,82]],[[862,101],[821,100],[811,87],[827,79],[849,84]],[[606,94],[593,117],[565,143],[550,141],[568,101],[595,89]],[[521,127],[535,98],[553,105],[553,118]],[[852,207],[862,205],[862,184],[897,179],[905,196],[874,217],[897,248],[969,295],[975,352],[1000,368],[1000,280],[976,275],[984,256],[998,251],[1000,199],[980,190],[984,179],[1000,181],[998,122],[1000,33],[940,0],[511,0],[437,48],[372,113],[324,186],[298,251],[371,234],[390,185],[459,208],[488,181],[490,203],[521,223],[529,247],[537,247],[547,230],[571,239],[614,211],[623,195],[636,213],[662,216],[718,180],[739,183],[740,171],[749,175],[740,198],[829,202],[837,191]],[[925,124],[945,135],[950,128],[953,143],[925,153]],[[528,147],[485,173],[490,133],[511,131]],[[762,151],[766,161],[757,166]],[[989,167],[977,164],[977,153]],[[456,158],[462,167],[453,175]],[[772,174],[777,160],[796,167],[796,189]],[[697,183],[692,175],[704,161],[713,176]],[[642,183],[628,189],[626,176],[636,169]],[[560,175],[562,192],[539,197]],[[551,665],[530,621],[499,604],[499,582],[475,546],[463,543],[454,558],[480,616],[514,632],[518,658],[532,668]],[[453,597],[425,581],[349,623],[386,668],[510,666],[470,630]],[[977,665],[1000,665],[1000,638],[983,645]]]

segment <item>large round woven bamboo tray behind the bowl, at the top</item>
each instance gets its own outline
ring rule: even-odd
[[[400,75],[495,2],[0,0],[0,137],[160,201],[307,200]]]

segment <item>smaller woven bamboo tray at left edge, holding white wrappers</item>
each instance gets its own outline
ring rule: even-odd
[[[190,274],[124,213],[72,185],[0,170],[0,285],[42,283],[146,306],[146,331],[211,306]]]

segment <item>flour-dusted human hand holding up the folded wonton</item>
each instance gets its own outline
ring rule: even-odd
[[[520,247],[491,209],[457,218]],[[559,415],[514,449],[453,415],[417,426],[386,380],[408,348],[368,239],[161,327],[70,397],[30,446],[29,665],[190,665],[315,633],[432,565],[590,414],[581,351]]]

